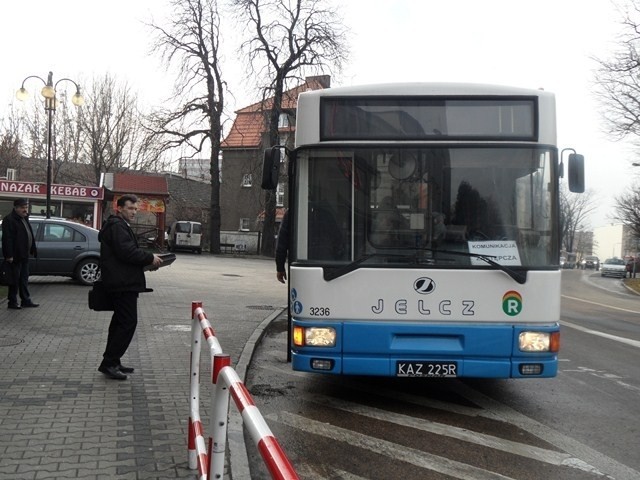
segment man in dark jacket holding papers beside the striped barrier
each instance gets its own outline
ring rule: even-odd
[[[162,259],[138,246],[129,226],[136,216],[138,198],[123,195],[98,235],[102,283],[113,300],[113,316],[109,324],[107,346],[98,371],[116,380],[126,380],[133,368],[125,367],[120,358],[129,348],[138,324],[138,294],[147,290],[144,267],[159,267]]]

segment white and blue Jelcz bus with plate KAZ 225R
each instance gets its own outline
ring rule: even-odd
[[[264,188],[276,187],[280,151],[265,154]],[[295,370],[556,375],[564,167],[553,94],[305,92],[288,157]],[[568,163],[570,190],[583,191],[583,157]]]

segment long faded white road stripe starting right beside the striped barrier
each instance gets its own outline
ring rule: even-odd
[[[357,448],[363,448],[380,455],[385,455],[394,460],[410,463],[411,465],[442,473],[443,475],[450,475],[461,480],[513,480],[511,477],[506,477],[499,473],[466,465],[414,448],[397,445],[381,438],[370,437],[335,425],[318,422],[296,415],[295,413],[272,413],[267,415],[266,418],[303,432],[319,435],[338,442],[345,442]]]

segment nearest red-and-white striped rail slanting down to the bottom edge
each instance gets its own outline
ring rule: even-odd
[[[271,478],[274,480],[299,480],[282,447],[280,447],[264,417],[256,407],[253,397],[240,380],[240,377],[238,377],[236,371],[229,366],[229,363],[228,355],[216,355],[214,357],[213,378],[214,383],[216,383],[216,390],[220,388],[226,389],[227,387],[230,390],[233,401],[242,414],[242,420],[247,426],[247,430],[255,442],[269,473],[271,473]],[[220,387],[220,379],[224,382],[222,387]],[[217,418],[216,420],[218,422],[224,421],[226,428],[226,414],[223,418]]]

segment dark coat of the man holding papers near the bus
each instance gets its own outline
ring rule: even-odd
[[[153,254],[138,246],[129,224],[111,215],[98,235],[102,283],[111,292],[144,292],[144,267],[153,263]]]

